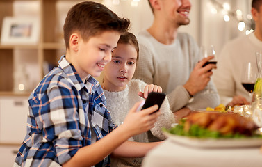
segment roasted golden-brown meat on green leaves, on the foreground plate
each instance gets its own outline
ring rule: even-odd
[[[200,138],[262,137],[254,122],[236,113],[193,112],[168,132]]]

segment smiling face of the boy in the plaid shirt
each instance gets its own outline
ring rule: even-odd
[[[81,79],[85,79],[88,74],[92,77],[100,76],[104,66],[110,62],[119,38],[120,34],[116,31],[104,31],[90,37],[88,41],[79,38],[73,65]]]

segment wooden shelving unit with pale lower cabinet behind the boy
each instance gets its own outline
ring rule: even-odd
[[[102,0],[97,1],[102,2]],[[69,8],[79,2],[80,0],[0,0],[0,38],[4,17],[35,16],[39,18],[40,22],[39,40],[36,45],[23,43],[22,45],[3,45],[0,43],[0,97],[2,100],[0,146],[20,145],[14,139],[18,140],[16,137],[19,136],[19,133],[17,132],[26,129],[22,126],[26,125],[28,97],[44,77],[44,73],[58,65],[60,56],[66,53],[63,41],[63,22]],[[21,83],[27,87],[26,91],[19,93],[17,86]],[[6,103],[6,100],[17,99],[22,100],[24,105],[14,105],[11,110],[11,105]],[[11,111],[13,113],[10,113]],[[15,137],[3,135],[9,133],[6,127],[11,127],[10,119],[13,119],[13,115],[17,116],[14,118],[17,120],[12,123],[17,124],[15,125],[17,132],[13,132]],[[26,132],[20,135],[22,139],[24,133]]]

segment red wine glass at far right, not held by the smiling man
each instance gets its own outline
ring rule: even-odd
[[[243,70],[241,74],[241,84],[249,93],[249,102],[252,103],[252,94],[254,90],[254,85],[256,83],[256,77],[258,70],[256,63],[247,62],[243,64]]]

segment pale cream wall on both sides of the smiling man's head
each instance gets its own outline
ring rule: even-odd
[[[140,0],[138,6],[131,7],[133,0],[120,1],[114,5],[111,0],[104,0],[108,8],[117,15],[131,19],[131,32],[137,34],[141,29],[147,29],[153,22],[152,11],[147,0]],[[244,17],[250,13],[252,0],[217,0],[219,3],[229,3],[230,11],[240,9]],[[187,32],[195,38],[198,45],[215,45],[217,54],[220,53],[223,45],[236,38],[238,35],[245,35],[245,31],[238,31],[238,21],[231,17],[229,22],[224,22],[224,11],[214,6],[212,0],[191,1],[190,24],[179,27],[179,31]],[[212,7],[218,9],[218,13],[211,13]]]

